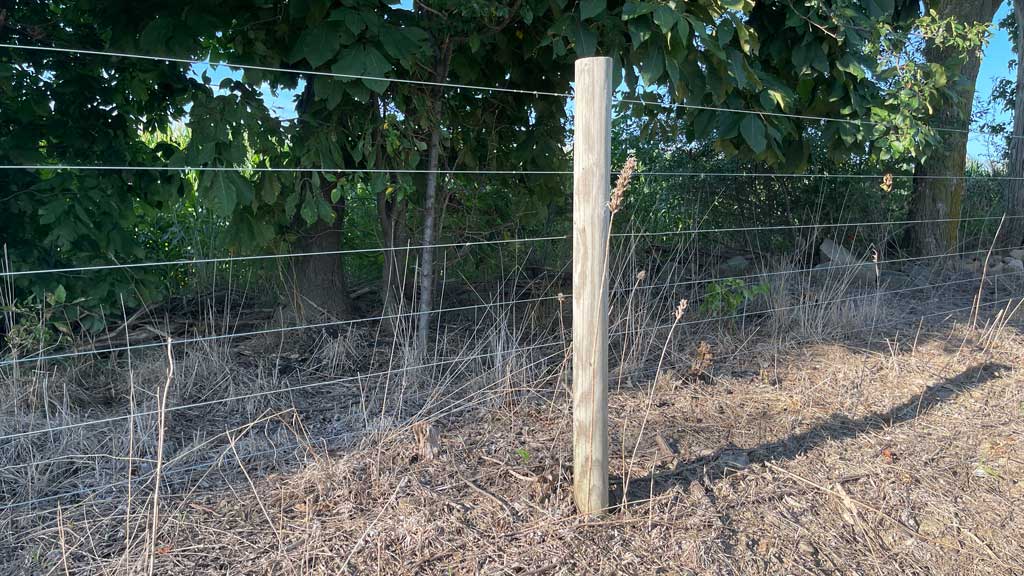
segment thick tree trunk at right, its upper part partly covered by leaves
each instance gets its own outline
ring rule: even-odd
[[[953,16],[962,23],[989,23],[1001,0],[933,0],[926,2],[940,17]],[[981,67],[981,50],[963,54],[955,47],[940,47],[932,39],[925,44],[924,56],[930,63],[945,63],[962,58],[958,75],[958,101],[945,102],[932,117],[932,125],[968,130],[974,110],[974,89]],[[914,167],[912,219],[926,221],[913,229],[914,244],[924,255],[950,253],[958,243],[964,176],[967,168],[966,132],[942,131],[942,145]],[[952,176],[952,177],[935,177]]]

